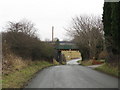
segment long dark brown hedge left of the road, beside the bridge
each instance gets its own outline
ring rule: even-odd
[[[41,42],[37,37],[31,37],[22,32],[3,33],[3,54],[10,51],[23,59],[48,60],[51,62],[54,56],[54,47],[45,42]]]

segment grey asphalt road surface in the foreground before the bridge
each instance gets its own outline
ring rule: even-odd
[[[118,88],[118,79],[80,65],[59,65],[40,71],[25,88]]]

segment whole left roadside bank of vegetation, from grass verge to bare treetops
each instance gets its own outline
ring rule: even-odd
[[[40,69],[53,65],[54,48],[36,36],[29,21],[9,22],[2,32],[2,87],[23,88]]]

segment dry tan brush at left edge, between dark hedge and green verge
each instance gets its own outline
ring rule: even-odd
[[[2,67],[3,75],[8,75],[11,72],[19,71],[20,69],[31,64],[31,60],[23,60],[21,57],[11,54],[7,54],[3,58]]]

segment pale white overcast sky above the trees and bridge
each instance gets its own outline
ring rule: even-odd
[[[0,31],[8,21],[28,19],[38,29],[41,40],[51,40],[54,26],[55,36],[66,39],[64,28],[71,19],[79,15],[102,15],[104,0],[1,0]]]

